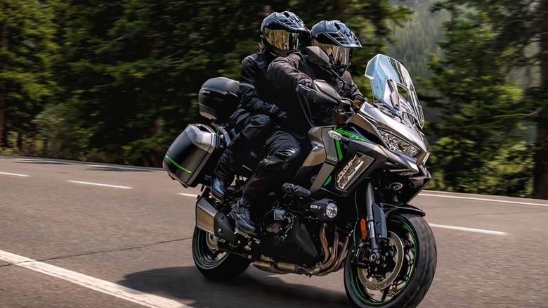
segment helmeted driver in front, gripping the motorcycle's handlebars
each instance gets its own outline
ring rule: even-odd
[[[353,32],[339,20],[325,21],[314,25],[311,29],[312,45],[318,46],[330,56],[330,68],[322,68],[308,61],[301,53],[292,53],[285,58],[273,60],[268,68],[267,77],[286,90],[294,91],[296,84],[310,85],[313,79],[324,79],[336,89],[339,94],[351,98],[355,105],[361,105],[365,100],[352,80],[346,68],[350,65],[350,54],[354,48],[361,48],[360,41]],[[289,89],[287,89],[289,88]],[[277,103],[290,113],[297,113],[294,100],[281,100]],[[326,125],[332,122],[332,108],[315,106],[315,115],[320,117],[315,124]],[[266,139],[268,156],[261,160],[253,176],[247,181],[243,196],[233,208],[245,215],[235,215],[237,226],[244,232],[256,234],[257,226],[249,216],[249,207],[263,202],[269,191],[275,191],[294,175],[292,167],[299,161],[301,145],[299,139],[306,138],[310,127],[304,121],[286,123],[282,129],[273,131]]]

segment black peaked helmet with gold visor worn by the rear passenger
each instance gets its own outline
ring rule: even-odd
[[[261,24],[264,48],[278,56],[287,56],[293,51],[299,51],[303,34],[309,33],[310,30],[301,18],[289,11],[274,12]]]

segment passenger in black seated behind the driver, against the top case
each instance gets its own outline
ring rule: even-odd
[[[301,41],[309,33],[303,21],[289,11],[271,13],[261,23],[261,48],[242,61],[240,105],[230,116],[238,134],[221,155],[214,171],[211,192],[218,198],[226,195],[226,187],[234,179],[235,167],[241,165],[241,158],[249,153],[251,141],[265,139],[273,130],[273,122],[279,124],[287,120],[287,113],[274,104],[280,99],[280,91],[266,77],[266,70],[278,56],[299,51]],[[236,213],[237,217],[246,214],[240,212]]]

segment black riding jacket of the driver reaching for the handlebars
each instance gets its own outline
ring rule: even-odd
[[[332,73],[323,70],[318,65],[315,65],[308,61],[308,56],[301,53],[292,53],[285,58],[277,58],[268,67],[267,76],[274,84],[282,87],[284,91],[292,91],[297,84],[307,84],[312,82],[313,79],[322,79],[334,87],[341,97],[350,98],[355,100],[356,98],[363,98],[358,86],[353,82],[350,72],[345,71],[341,76],[344,82],[338,77],[332,75]],[[294,100],[282,100],[279,102],[280,108],[286,110],[293,115],[303,115],[301,107]],[[315,125],[329,125],[332,122],[333,110],[331,106],[325,105],[311,105],[312,122]],[[305,133],[310,129],[310,126],[305,125],[306,120],[299,121],[298,127],[294,129],[299,130],[300,134]]]

